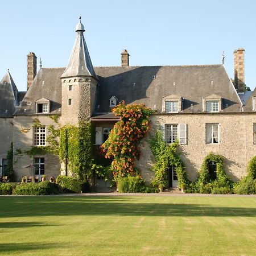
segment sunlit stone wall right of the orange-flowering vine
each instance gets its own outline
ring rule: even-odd
[[[148,139],[158,125],[179,123],[187,124],[187,144],[180,145],[179,152],[190,180],[197,178],[197,172],[209,152],[224,156],[225,172],[232,180],[236,181],[247,174],[247,163],[256,154],[256,144],[253,144],[255,113],[155,114],[152,116],[151,132],[144,139],[144,146],[141,146],[142,156],[137,163],[145,179],[154,176],[150,171],[154,156],[148,146]],[[206,123],[220,124],[218,144],[205,143]]]

